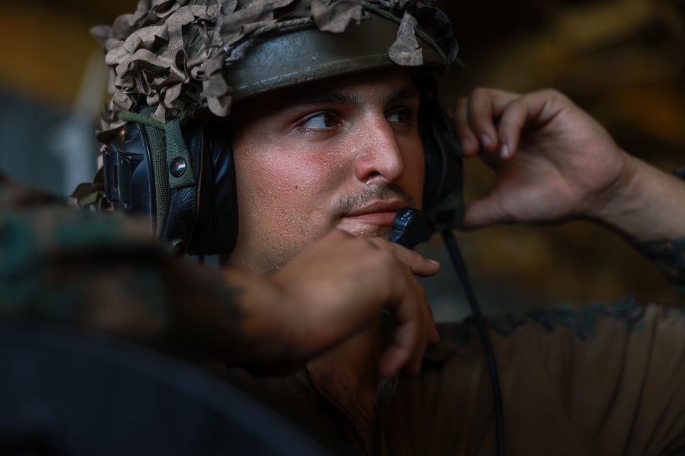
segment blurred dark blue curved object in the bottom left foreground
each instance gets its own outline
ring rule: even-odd
[[[138,345],[0,324],[0,454],[323,455],[246,394]]]

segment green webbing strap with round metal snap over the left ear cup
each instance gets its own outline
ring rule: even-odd
[[[174,176],[169,172],[169,187],[177,189],[179,187],[188,187],[195,185],[195,172],[192,170],[190,161],[190,152],[186,147],[186,142],[183,140],[181,133],[181,120],[185,117],[184,112],[181,113],[181,118],[173,119],[166,124],[155,120],[145,114],[132,113],[122,111],[119,113],[119,119],[126,122],[139,122],[147,126],[153,126],[155,129],[164,131],[166,137],[166,167],[170,169],[173,162],[182,161],[185,165],[185,170],[182,174]]]

